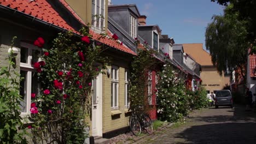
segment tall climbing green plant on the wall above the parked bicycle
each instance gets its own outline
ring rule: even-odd
[[[129,89],[130,107],[135,111],[148,112],[149,102],[147,95],[148,71],[155,66],[153,57],[154,50],[137,49],[137,56],[134,56],[131,63],[131,76]],[[142,106],[143,109],[138,106]]]

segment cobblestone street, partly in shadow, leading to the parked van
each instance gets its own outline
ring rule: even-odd
[[[126,143],[255,143],[256,113],[244,106],[203,109],[186,123],[174,124],[136,142]]]

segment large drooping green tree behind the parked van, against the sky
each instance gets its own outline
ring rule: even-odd
[[[238,13],[232,13],[232,4],[226,7],[224,15],[213,16],[206,28],[206,49],[210,50],[212,62],[220,75],[228,69],[240,68],[245,78],[247,63],[247,21],[238,20]]]

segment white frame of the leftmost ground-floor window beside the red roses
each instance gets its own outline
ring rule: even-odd
[[[33,50],[38,50],[40,53],[39,55],[42,55],[41,51],[42,49],[39,49],[38,47],[32,45],[32,44],[27,44],[24,42],[20,43],[21,47],[24,47],[25,49],[28,49],[28,56],[27,56],[27,63],[22,63],[20,62],[20,70],[22,71],[27,71],[27,77],[25,77],[26,80],[26,112],[21,112],[21,117],[28,116],[31,114],[30,112],[30,106],[31,106],[31,89],[32,89],[32,72],[36,72],[36,69],[34,69],[33,64],[32,64],[32,51]],[[21,55],[20,55],[21,58]],[[38,61],[41,61],[40,56]],[[39,93],[39,88],[38,88],[38,93]],[[36,93],[36,95],[38,95]]]

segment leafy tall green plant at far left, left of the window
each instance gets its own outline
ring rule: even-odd
[[[13,38],[11,48],[13,47]],[[15,55],[9,53],[9,66],[0,69],[0,143],[27,143],[20,117],[19,74],[15,71]],[[19,130],[20,129],[20,130]]]

